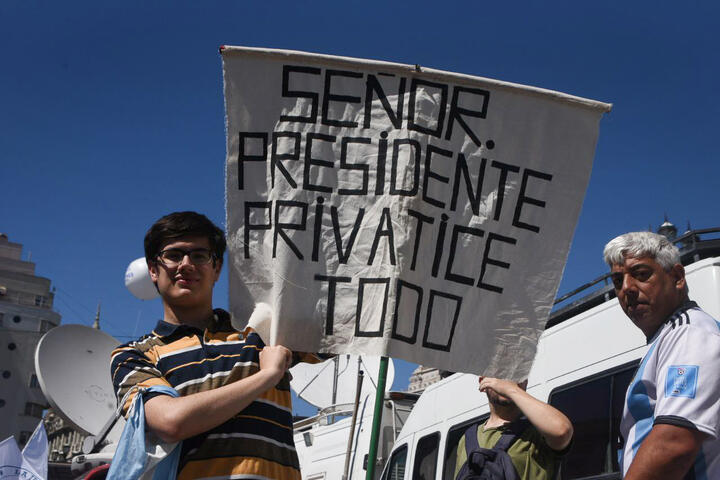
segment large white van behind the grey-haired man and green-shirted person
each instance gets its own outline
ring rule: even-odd
[[[684,263],[718,255],[718,243],[709,240],[681,250]],[[720,319],[720,257],[685,268],[690,298]],[[618,427],[625,390],[647,346],[613,297],[606,282],[551,315],[528,379],[530,394],[573,422],[575,435],[563,459],[562,479],[621,478]],[[382,480],[453,480],[462,434],[488,415],[487,397],[478,391],[475,375],[455,374],[428,387],[398,435]]]

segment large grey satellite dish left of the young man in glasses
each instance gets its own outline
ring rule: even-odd
[[[110,353],[119,343],[94,328],[61,325],[35,349],[35,372],[50,406],[90,435],[97,435],[115,414]]]

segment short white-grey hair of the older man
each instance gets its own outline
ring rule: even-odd
[[[665,236],[652,232],[630,232],[605,245],[603,258],[610,268],[622,265],[625,258],[650,257],[666,271],[680,263],[680,251]]]

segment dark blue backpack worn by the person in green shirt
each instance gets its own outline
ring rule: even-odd
[[[500,436],[493,448],[482,448],[477,441],[478,425],[465,430],[465,453],[463,464],[455,480],[520,480],[507,451],[528,425],[526,419],[514,422]]]

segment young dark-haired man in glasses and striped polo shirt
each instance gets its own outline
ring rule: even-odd
[[[145,420],[163,441],[183,441],[179,479],[299,480],[286,373],[293,355],[265,346],[250,328],[235,330],[226,311],[213,310],[225,245],[223,232],[195,212],[150,227],[145,258],[164,316],[150,334],[113,352],[115,392],[121,401],[133,387],[178,391],[177,398],[146,394]]]

